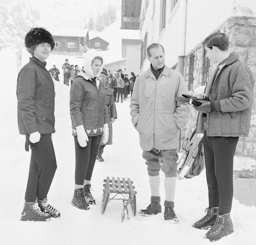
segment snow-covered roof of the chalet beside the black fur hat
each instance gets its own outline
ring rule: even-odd
[[[85,37],[88,29],[74,28],[74,27],[50,27],[47,30],[53,36],[69,36],[69,37]]]

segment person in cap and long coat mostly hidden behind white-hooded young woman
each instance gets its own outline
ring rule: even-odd
[[[105,77],[106,76],[107,70],[105,68],[102,68],[102,71],[100,73],[100,77]],[[109,77],[109,79],[111,79]],[[116,110],[116,105],[115,105],[115,100],[114,100],[114,95],[113,95],[113,89],[109,88],[108,86],[105,86],[105,93],[106,93],[106,103],[108,107],[108,114],[109,114],[109,140],[107,143],[102,143],[102,140],[100,142],[99,150],[96,159],[99,162],[104,162],[104,159],[102,157],[104,147],[105,145],[112,145],[112,123],[115,122],[117,118],[117,110]]]

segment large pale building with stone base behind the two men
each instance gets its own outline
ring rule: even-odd
[[[140,12],[140,73],[149,68],[147,46],[160,43],[165,49],[165,64],[177,69],[193,94],[205,85],[211,64],[205,57],[202,41],[212,32],[229,36],[230,51],[237,52],[256,78],[256,2],[249,0],[142,0]],[[139,42],[139,41],[138,41]],[[126,45],[126,44],[124,44]],[[126,57],[129,57],[127,49]],[[127,58],[128,59],[128,58]],[[137,60],[137,62],[138,62]],[[197,111],[192,109],[181,141],[186,132],[195,128]],[[250,135],[241,137],[234,158],[234,176],[255,178],[256,158],[256,86]]]

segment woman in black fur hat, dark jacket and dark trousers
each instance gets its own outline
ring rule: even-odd
[[[36,27],[26,34],[25,46],[32,57],[18,74],[16,95],[19,133],[26,135],[25,150],[31,147],[31,160],[20,220],[49,221],[60,217],[47,201],[57,164],[51,138],[55,133],[55,92],[45,60],[55,42],[49,31]]]

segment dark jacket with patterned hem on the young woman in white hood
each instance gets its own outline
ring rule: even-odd
[[[109,123],[109,115],[102,82],[97,89],[96,82],[85,73],[75,77],[70,88],[70,116],[73,136],[79,125],[83,125],[88,136],[103,135],[103,124]]]

